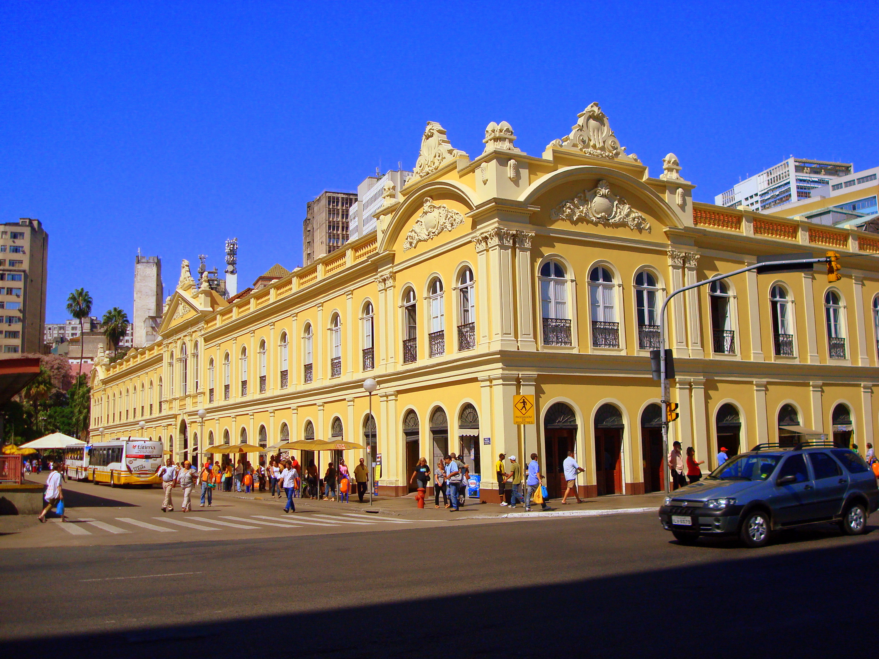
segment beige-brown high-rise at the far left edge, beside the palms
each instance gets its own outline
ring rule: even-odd
[[[0,324],[3,357],[43,350],[49,235],[39,220],[0,225]]]

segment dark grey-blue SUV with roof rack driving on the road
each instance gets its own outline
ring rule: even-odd
[[[659,520],[682,543],[728,534],[763,547],[773,531],[821,522],[857,535],[877,507],[875,475],[854,451],[761,444],[666,496]]]

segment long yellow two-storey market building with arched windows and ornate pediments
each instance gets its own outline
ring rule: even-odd
[[[766,255],[827,250],[843,264],[833,284],[823,265],[748,272],[672,301],[670,440],[706,470],[722,446],[805,429],[861,451],[873,441],[879,236],[694,203],[678,159],[650,176],[597,104],[541,156],[515,139],[492,122],[471,160],[429,122],[415,177],[399,199],[385,191],[376,232],[230,301],[184,262],[162,338],[96,361],[92,441],[161,439],[182,460],[344,438],[374,446],[386,495],[410,491],[418,458],[462,453],[488,501],[498,453],[537,453],[558,494],[571,449],[585,495],[662,489],[649,351],[664,296]],[[518,394],[534,395],[534,424],[513,424]]]

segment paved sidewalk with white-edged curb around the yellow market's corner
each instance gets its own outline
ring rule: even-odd
[[[233,501],[236,499],[262,501],[266,505],[276,505],[279,508],[283,508],[287,503],[286,496],[272,500],[272,496],[268,491],[251,492],[251,494],[235,491],[220,492],[219,494],[214,492],[215,503],[220,503],[224,499],[231,499]],[[565,505],[562,505],[560,498],[549,499],[547,504],[553,513],[577,516],[579,511],[592,514],[596,511],[608,511],[606,514],[613,514],[609,511],[633,511],[634,509],[642,508],[658,509],[662,505],[663,499],[665,499],[665,492],[653,492],[647,495],[596,496],[592,499],[583,499],[583,503],[577,503],[576,499],[570,498]],[[293,501],[297,512],[361,512],[419,520],[446,521],[448,519],[501,518],[506,515],[525,512],[525,507],[522,504],[511,509],[509,506],[502,506],[498,503],[480,503],[476,499],[468,499],[468,503],[460,511],[452,512],[443,507],[442,496],[439,497],[439,509],[433,507],[433,497],[429,497],[425,499],[424,509],[418,510],[414,493],[407,496],[374,496],[372,506],[369,505],[368,497],[364,500],[364,503],[358,503],[357,496],[352,496],[350,503],[301,498],[294,498]],[[535,504],[534,511],[528,514],[540,516],[540,505]],[[516,517],[520,516],[516,515]],[[553,515],[553,517],[556,517],[556,515]]]

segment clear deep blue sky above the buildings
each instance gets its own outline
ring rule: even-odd
[[[879,164],[879,5],[11,2],[0,5],[0,220],[49,232],[47,322],[77,286],[133,306],[138,248],[239,285],[301,264],[305,204],[411,168],[428,119],[538,156],[592,101],[653,172],[714,195],[795,154]]]

